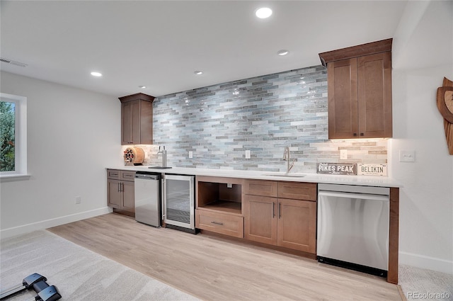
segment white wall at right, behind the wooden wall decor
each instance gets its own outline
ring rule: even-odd
[[[411,13],[394,36],[394,138],[389,144],[391,176],[404,186],[399,259],[453,273],[453,156],[436,106],[444,76],[453,80],[453,2],[409,5]],[[415,151],[415,162],[400,162],[400,149]]]

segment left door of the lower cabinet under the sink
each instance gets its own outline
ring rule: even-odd
[[[264,244],[277,244],[277,199],[245,195],[244,237]]]

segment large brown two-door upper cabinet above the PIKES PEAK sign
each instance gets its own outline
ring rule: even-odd
[[[391,42],[319,54],[327,67],[329,139],[392,136]]]

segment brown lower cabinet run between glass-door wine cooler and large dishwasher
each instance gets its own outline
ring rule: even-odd
[[[197,229],[316,254],[316,183],[197,176]]]

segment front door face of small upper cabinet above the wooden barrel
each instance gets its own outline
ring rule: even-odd
[[[121,104],[121,144],[140,143],[140,101]]]

